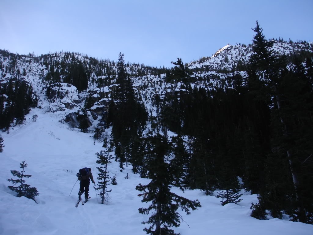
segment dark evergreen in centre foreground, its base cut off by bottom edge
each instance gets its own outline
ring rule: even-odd
[[[144,231],[147,234],[176,234],[171,227],[178,227],[181,222],[181,215],[177,212],[179,208],[190,214],[191,210],[200,207],[198,200],[191,201],[170,191],[171,186],[175,185],[175,176],[171,164],[165,162],[165,156],[169,150],[169,144],[164,142],[160,134],[149,137],[151,149],[147,149],[147,168],[148,177],[151,182],[147,185],[139,184],[136,190],[142,193],[142,202],[151,202],[147,208],[139,208],[139,213],[152,215],[143,224],[151,224]],[[181,187],[183,190],[183,188]]]

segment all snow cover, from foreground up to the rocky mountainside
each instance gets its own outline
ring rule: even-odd
[[[298,44],[296,46],[301,47]],[[295,50],[296,46],[277,43],[275,50],[286,53]],[[207,89],[214,89],[214,86],[227,86],[225,77],[228,73],[224,73],[223,70],[231,70],[239,60],[245,62],[250,51],[249,46],[227,45],[212,57],[190,63],[189,67],[198,78],[198,81],[191,86],[202,86]],[[79,129],[70,128],[62,120],[70,112],[78,112],[83,107],[88,93],[93,94],[95,98],[99,97],[100,92],[107,93],[110,97],[110,89],[114,85],[96,88],[96,83],[90,79],[89,92],[78,92],[75,86],[66,83],[53,86],[44,84],[43,78],[49,71],[46,57],[53,60],[54,65],[57,66],[61,58],[66,56],[64,53],[56,53],[44,56],[41,60],[29,56],[17,56],[17,60],[14,61],[14,58],[9,55],[0,55],[0,62],[3,66],[0,83],[6,83],[9,78],[16,76],[17,69],[21,74],[25,72],[25,76],[22,77],[32,84],[40,98],[38,106],[41,107],[35,108],[26,115],[25,124],[11,127],[9,133],[1,133],[5,147],[0,153],[3,163],[0,171],[0,234],[145,234],[142,231],[145,225],[141,222],[146,221],[149,216],[139,214],[138,208],[147,205],[141,203],[135,187],[149,180],[132,174],[131,166],[121,172],[119,163],[113,161],[109,165],[110,176],[116,173],[118,185],[111,185],[112,192],[110,192],[108,205],[99,204],[100,198],[97,199],[95,189],[90,187],[92,197],[90,201],[84,206],[74,207],[79,190],[79,182],[75,184],[76,173],[86,166],[92,168],[96,178],[98,172],[95,153],[103,148],[102,143],[94,143],[90,133],[81,133]],[[81,55],[74,55],[73,58],[87,66],[92,62],[91,59],[86,59]],[[66,58],[68,62],[71,59],[72,57]],[[108,64],[111,63],[108,62]],[[10,72],[13,71],[12,67],[10,68],[13,65],[15,66],[14,73]],[[197,68],[204,69],[197,71]],[[110,69],[116,70],[113,63]],[[172,84],[165,82],[164,74],[153,74],[139,64],[127,67],[127,70],[132,74],[134,88],[145,102],[149,114],[156,115],[152,98],[156,94],[162,97],[170,91]],[[102,75],[100,72],[97,76],[96,66],[93,71],[90,76],[94,78],[94,81],[107,76],[103,75],[104,71]],[[145,75],[137,76],[135,71]],[[107,67],[105,72],[107,72]],[[240,73],[244,76],[244,71]],[[51,96],[47,97],[46,91],[49,87]],[[54,96],[54,92],[59,93],[59,96]],[[96,102],[95,108],[104,106],[103,103],[105,102]],[[33,122],[33,115],[38,115],[36,122]],[[97,121],[99,119],[93,122],[94,126],[97,125]],[[110,134],[110,129],[105,131],[108,135]],[[14,178],[10,170],[21,170],[19,164],[23,160],[26,160],[28,164],[25,174],[32,175],[26,179],[26,183],[36,187],[40,193],[36,197],[38,204],[24,197],[17,198],[8,189],[8,185],[12,184],[6,179]],[[130,176],[129,179],[125,179],[127,173]],[[182,194],[177,188],[172,190],[177,194]],[[242,193],[244,194],[241,197],[243,201],[238,205],[221,206],[219,199],[205,196],[199,190],[185,191],[185,197],[192,200],[198,199],[202,207],[189,216],[182,212],[185,222],[174,230],[182,235],[208,233],[309,235],[313,233],[312,225],[289,222],[287,217],[283,220],[267,221],[250,217],[250,206],[252,202],[257,202],[256,195]]]

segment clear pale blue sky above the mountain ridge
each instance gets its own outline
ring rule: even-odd
[[[79,52],[98,59],[171,67],[267,39],[313,42],[312,0],[2,0],[0,49],[35,55]]]

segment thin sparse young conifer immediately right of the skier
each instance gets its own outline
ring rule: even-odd
[[[96,163],[99,164],[100,166],[97,167],[99,170],[99,174],[97,177],[98,181],[98,187],[96,190],[100,190],[100,197],[101,197],[101,204],[107,203],[108,200],[108,192],[111,190],[107,189],[108,182],[110,181],[109,177],[109,171],[108,169],[108,164],[111,163],[111,159],[113,159],[112,155],[109,153],[108,150],[104,151],[101,150],[100,153],[96,153],[97,155],[97,161]]]

